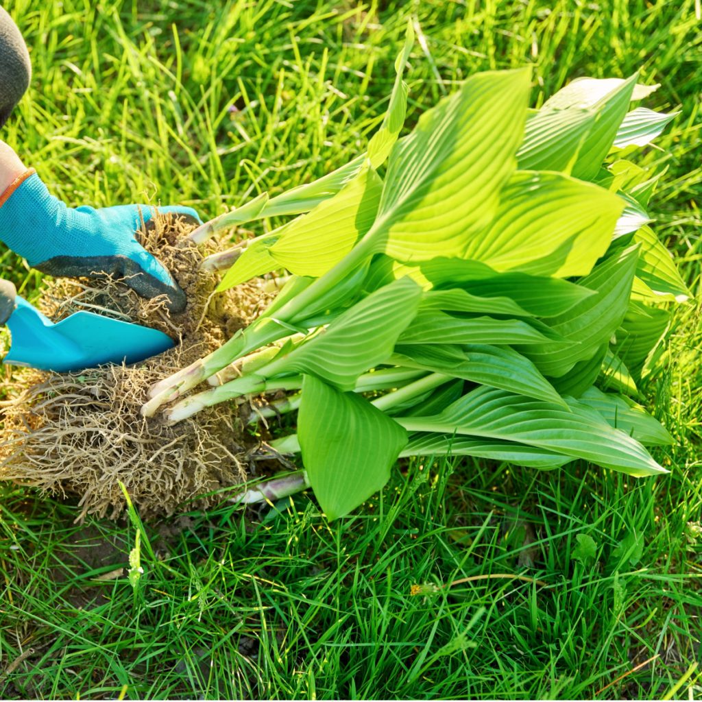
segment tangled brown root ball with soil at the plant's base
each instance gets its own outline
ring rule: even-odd
[[[183,503],[206,508],[219,501],[210,493],[244,482],[258,442],[247,435],[237,407],[221,404],[175,426],[139,413],[154,382],[216,349],[270,301],[258,282],[215,295],[218,279],[199,270],[210,252],[186,238],[189,229],[159,218],[143,234],[187,295],[182,314],[170,314],[165,297],[144,300],[112,280],[48,284],[40,305],[54,321],[78,310],[112,314],[164,331],[178,344],[140,364],[81,373],[6,367],[0,479],[78,495],[78,519],[121,515],[119,481],[145,517],[172,514]]]

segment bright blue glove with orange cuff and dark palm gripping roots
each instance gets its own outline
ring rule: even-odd
[[[160,207],[200,224],[190,207]],[[185,309],[185,293],[171,274],[136,239],[142,220],[154,226],[156,208],[120,205],[70,208],[53,197],[33,168],[0,196],[0,240],[27,263],[55,277],[114,275],[140,296],[168,296],[171,312]]]

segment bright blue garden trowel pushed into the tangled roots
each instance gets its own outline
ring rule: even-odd
[[[0,283],[0,293],[11,286]],[[157,329],[93,312],[76,312],[54,324],[24,298],[15,296],[14,301],[15,309],[6,322],[12,345],[5,364],[65,373],[105,363],[138,363],[175,345]]]

